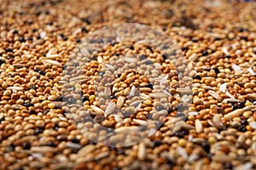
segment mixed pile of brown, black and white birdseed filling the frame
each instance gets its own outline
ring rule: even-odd
[[[200,0],[3,1],[0,169],[256,168],[255,9],[255,3]],[[173,120],[180,114],[175,106],[181,101],[175,65],[168,65],[168,59],[156,49],[118,42],[82,57],[88,55],[83,49],[83,37],[88,33],[126,22],[164,31],[186,59],[193,61],[189,72],[193,99],[189,111],[183,113],[186,117],[179,116],[183,123]],[[116,50],[125,57],[117,57]],[[141,72],[127,70],[127,66],[138,65],[129,58],[133,53],[138,62],[160,63],[159,70],[143,64]],[[131,64],[125,65],[121,59]],[[87,64],[79,65],[80,61]],[[113,67],[117,63],[123,70]],[[81,71],[81,77],[75,77],[75,71]],[[147,71],[155,77],[168,75],[160,77],[169,86],[165,93],[157,89],[167,84],[155,82],[152,87]],[[109,72],[119,76],[113,87],[108,86],[108,78],[114,78]],[[101,88],[103,81],[107,82],[101,90],[104,93],[96,94],[95,83]],[[72,96],[68,90],[73,91]],[[153,90],[161,100],[155,99]],[[165,105],[158,105],[159,101]],[[63,105],[65,102],[71,107]],[[74,117],[76,105],[84,105],[90,116],[79,111],[80,117]],[[125,107],[128,105],[130,108]],[[117,133],[109,141],[121,146],[120,139],[130,138],[124,133],[127,128],[147,132],[145,120],[150,115],[154,116],[150,120],[156,120],[151,126],[159,128],[139,144],[112,147],[95,143],[94,139],[105,141],[104,129],[98,135],[84,136],[86,130],[99,129],[91,123],[93,119]],[[76,119],[81,122],[74,124]],[[172,129],[175,127],[178,129]]]

